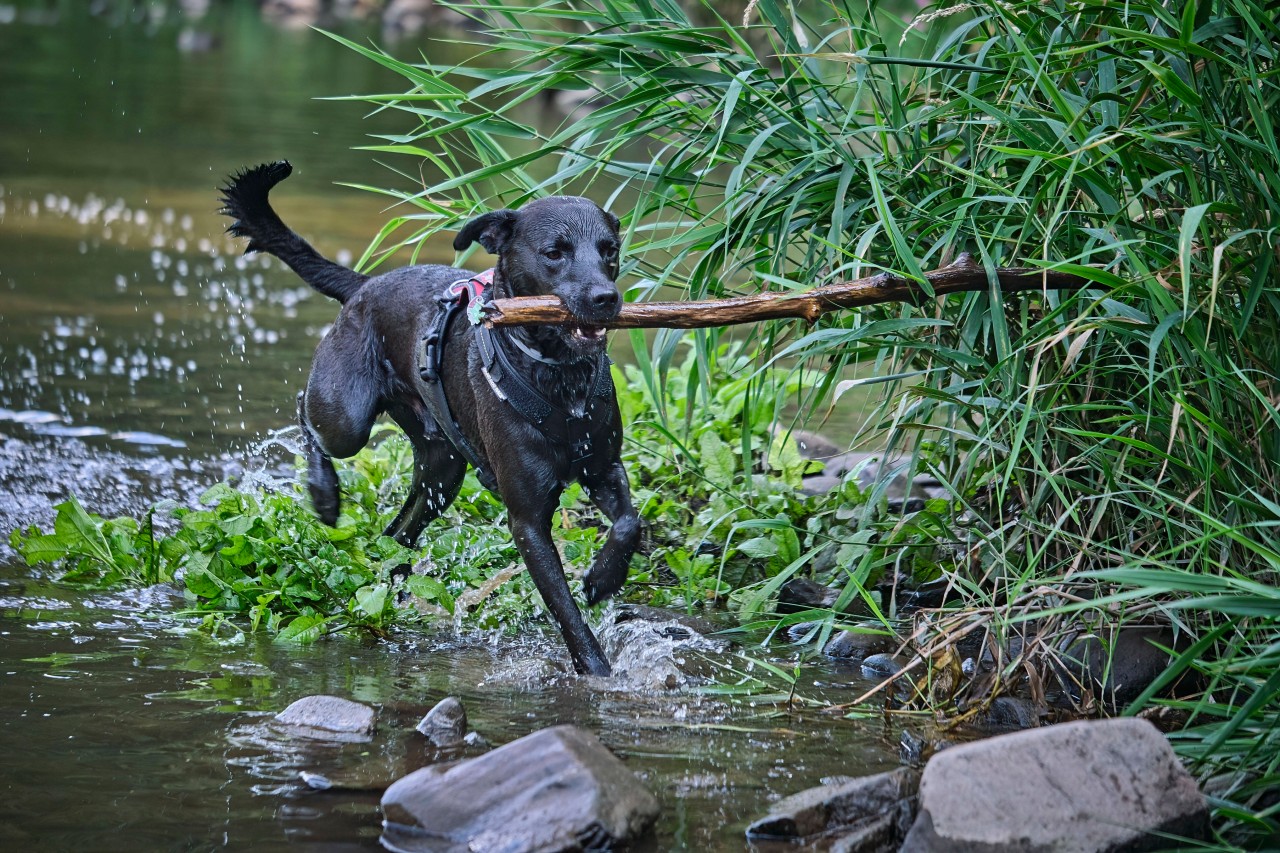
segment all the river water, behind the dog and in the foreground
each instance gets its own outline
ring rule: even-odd
[[[433,56],[449,50],[462,49]],[[284,219],[330,256],[358,255],[385,202],[334,182],[393,182],[351,147],[404,128],[316,99],[398,87],[252,3],[204,15],[164,3],[0,4],[5,534],[47,525],[73,493],[91,511],[137,512],[191,501],[228,474],[287,471],[264,437],[291,424],[334,306],[279,265],[241,257],[215,187],[238,167],[288,158]],[[178,590],[84,592],[54,578],[0,546],[8,850],[376,849],[376,789],[458,757],[424,749],[412,730],[447,694],[493,744],[559,722],[598,733],[662,803],[648,849],[741,849],[745,825],[778,797],[896,763],[896,733],[878,721],[783,713],[763,694],[513,675],[521,661],[562,657],[553,634],[228,643],[183,615]],[[753,666],[744,654],[794,665],[786,648],[753,644],[701,657],[735,681]],[[841,702],[865,686],[855,670],[809,662],[796,690]],[[265,725],[315,693],[376,706],[375,740],[317,745]],[[346,789],[311,792],[302,770]]]

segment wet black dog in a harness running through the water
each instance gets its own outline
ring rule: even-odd
[[[323,257],[271,210],[288,163],[255,167],[223,187],[228,231],[248,237],[305,282],[342,302],[298,394],[307,487],[326,524],[338,519],[332,457],[353,456],[388,412],[413,444],[408,500],[387,534],[412,546],[458,494],[467,462],[507,505],[511,532],[580,672],[609,662],[573,603],[552,543],[561,492],[584,485],[609,517],[608,540],[585,579],[589,603],[622,588],[640,538],[620,461],[622,424],[608,378],[604,324],[618,315],[618,220],[586,199],[550,197],[468,222],[453,247],[498,256],[493,296],[561,298],[577,325],[485,329],[453,318],[475,277],[407,266],[370,278]],[[470,289],[468,289],[470,288]],[[462,293],[466,296],[466,293]],[[445,314],[447,313],[447,314]],[[424,346],[425,342],[425,346]]]

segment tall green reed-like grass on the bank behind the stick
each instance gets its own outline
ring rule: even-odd
[[[799,401],[812,415],[849,369],[893,377],[863,432],[951,491],[952,511],[837,566],[846,597],[910,548],[961,592],[970,629],[998,644],[1029,626],[1039,642],[1006,647],[1001,679],[961,690],[970,704],[1047,671],[1082,624],[1172,625],[1188,651],[1161,684],[1204,674],[1175,744],[1215,780],[1224,831],[1275,831],[1274,10],[978,0],[906,23],[838,0],[731,17],[671,0],[461,8],[481,31],[474,65],[353,45],[407,86],[367,96],[406,113],[406,133],[371,147],[412,178],[380,190],[403,213],[366,264],[477,207],[572,191],[630,211],[632,298],[919,275],[960,251],[1096,282],[768,325],[759,362],[785,347],[824,369]],[[585,108],[529,118],[567,95]],[[718,338],[695,337],[704,362]],[[680,339],[643,353],[650,382]]]

